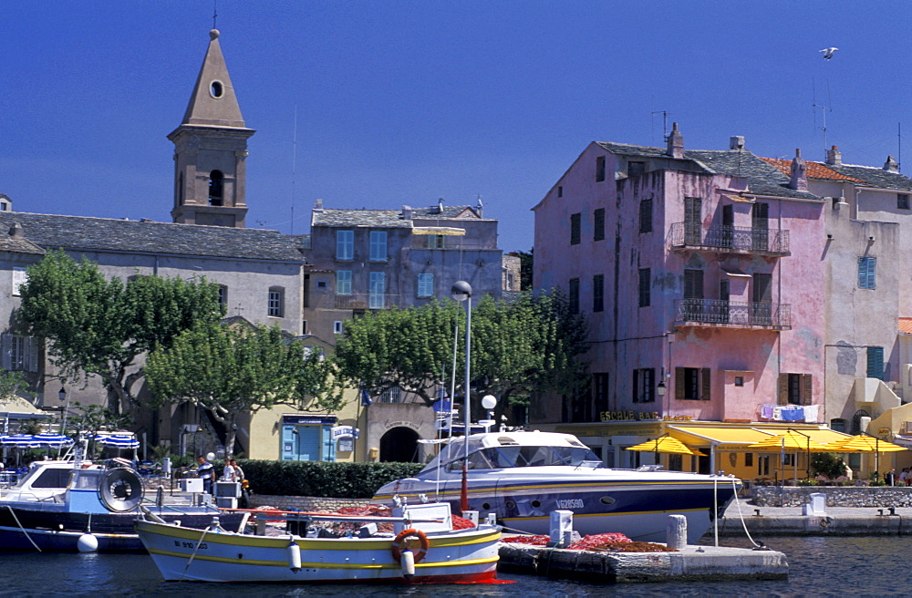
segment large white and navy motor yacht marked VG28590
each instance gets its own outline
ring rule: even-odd
[[[554,510],[574,512],[581,534],[621,532],[634,541],[665,541],[668,515],[688,521],[700,540],[741,489],[731,477],[640,469],[608,469],[570,434],[488,432],[468,439],[469,509],[493,514],[509,531],[549,533]],[[414,478],[380,488],[374,500],[426,494],[459,505],[464,438],[454,438]]]

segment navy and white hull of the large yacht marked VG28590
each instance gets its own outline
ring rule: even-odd
[[[629,478],[634,472],[626,473]],[[574,530],[583,535],[620,532],[634,541],[665,541],[668,515],[680,514],[688,521],[688,541],[695,543],[724,512],[740,483],[732,479],[713,481],[708,476],[688,478],[686,474],[677,479],[660,475],[640,479],[599,477],[560,479],[554,473],[537,479],[473,476],[469,509],[478,510],[482,518],[493,513],[508,531],[534,534],[549,533],[552,511],[571,510]],[[408,500],[427,494],[458,509],[460,490],[461,480],[439,483],[435,479],[399,479],[378,490],[374,500],[389,503],[395,494]]]

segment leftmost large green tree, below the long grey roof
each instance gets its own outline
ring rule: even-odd
[[[223,315],[218,285],[204,279],[137,276],[106,280],[98,264],[49,253],[28,268],[16,315],[24,332],[46,338],[48,355],[65,380],[99,376],[114,414],[136,405],[144,375],[138,357],[167,347],[194,322]]]

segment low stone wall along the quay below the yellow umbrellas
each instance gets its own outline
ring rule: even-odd
[[[755,486],[751,502],[758,507],[801,507],[812,494],[825,494],[827,507],[912,507],[912,487]]]

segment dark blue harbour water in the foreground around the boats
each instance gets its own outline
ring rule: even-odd
[[[502,573],[503,585],[264,585],[162,582],[142,554],[0,552],[0,596],[907,596],[912,537],[764,538],[784,552],[784,582],[579,583]],[[725,538],[723,546],[744,546]]]

